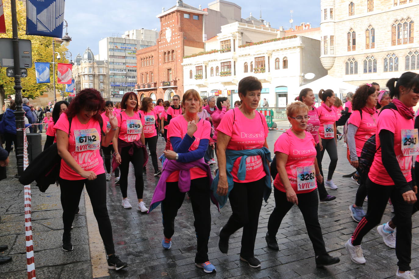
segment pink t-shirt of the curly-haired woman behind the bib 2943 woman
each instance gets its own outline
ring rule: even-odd
[[[357,156],[361,156],[362,148],[364,147],[365,141],[375,134],[377,130],[378,113],[369,114],[362,111],[362,120],[359,110],[354,110],[349,116],[348,124],[352,124],[358,127],[357,133],[355,133],[355,146],[357,147]]]

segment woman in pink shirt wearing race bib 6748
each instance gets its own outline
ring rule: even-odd
[[[154,176],[159,176],[161,171],[158,169],[157,164],[157,120],[158,113],[154,108],[153,99],[149,97],[142,98],[140,113],[144,117],[145,125],[143,128],[145,145],[148,144],[148,149],[150,149],[151,161],[153,162]],[[144,173],[147,171],[144,167]]]

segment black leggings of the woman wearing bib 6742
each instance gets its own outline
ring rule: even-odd
[[[106,177],[99,174],[96,179],[67,180],[59,178],[61,189],[62,223],[64,233],[71,232],[71,225],[74,220],[75,210],[80,202],[80,195],[83,187],[89,195],[93,207],[93,213],[99,226],[103,244],[108,255],[115,253],[114,240],[112,236],[112,225],[109,220],[108,209],[106,208]]]

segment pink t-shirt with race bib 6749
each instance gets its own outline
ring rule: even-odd
[[[119,127],[118,137],[122,141],[133,142],[138,141],[141,138],[142,128],[144,127],[144,117],[140,118],[139,112],[134,111],[133,116],[128,116],[125,111],[123,111],[116,119],[118,119]]]

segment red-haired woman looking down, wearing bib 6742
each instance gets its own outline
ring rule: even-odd
[[[122,269],[127,266],[115,256],[112,226],[106,208],[106,177],[100,146],[108,146],[114,137],[117,121],[108,115],[111,129],[105,135],[106,123],[101,113],[105,101],[93,88],[81,90],[72,100],[66,113],[62,113],[54,128],[57,131],[57,148],[61,156],[59,187],[61,189],[62,249],[72,251],[71,224],[80,201],[84,185],[90,197],[93,212],[99,225],[103,244],[108,254],[108,268]],[[102,123],[102,125],[100,124]]]

